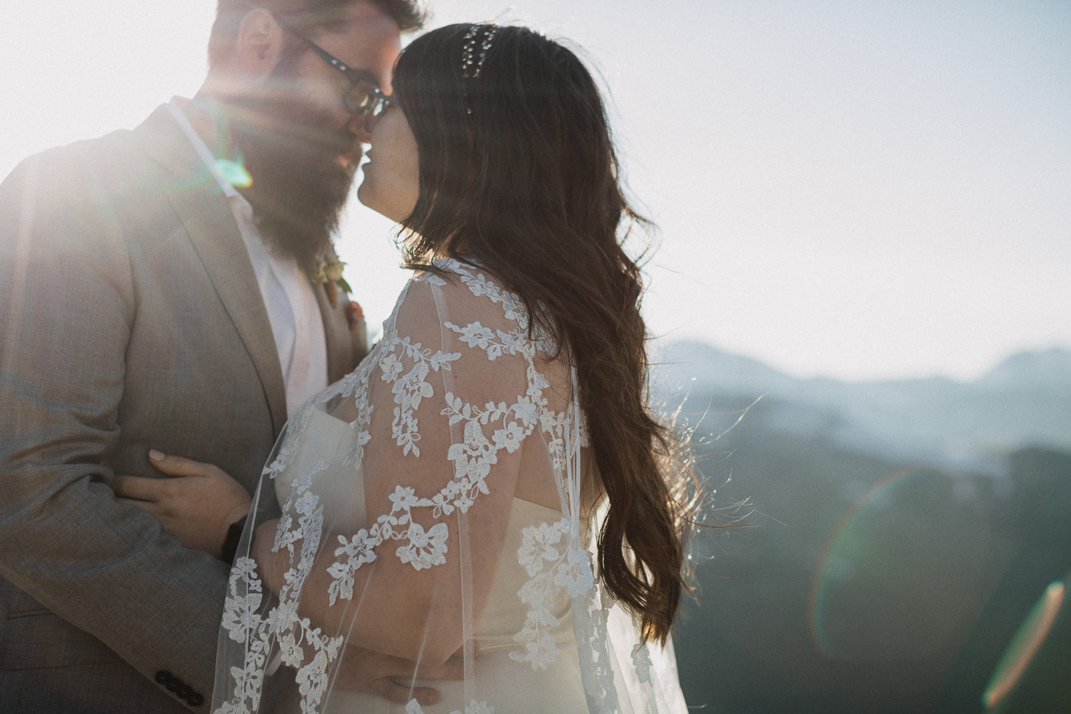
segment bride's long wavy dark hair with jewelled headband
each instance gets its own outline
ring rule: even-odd
[[[621,247],[643,219],[621,192],[605,107],[579,59],[526,28],[466,37],[473,29],[418,37],[394,70],[420,152],[406,263],[474,259],[569,346],[609,501],[599,573],[645,639],[664,641],[684,589],[685,506],[679,469],[665,467],[672,435],[648,405],[640,273]]]

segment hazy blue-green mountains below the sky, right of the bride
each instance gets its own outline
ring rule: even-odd
[[[689,705],[980,714],[1019,624],[1071,581],[1071,353],[969,383],[797,379],[699,343],[658,360],[657,396],[695,427],[704,517],[751,526],[690,546]]]

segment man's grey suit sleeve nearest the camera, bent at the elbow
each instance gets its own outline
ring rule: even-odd
[[[108,485],[137,305],[105,187],[65,151],[0,185],[0,574],[193,704],[226,566]]]

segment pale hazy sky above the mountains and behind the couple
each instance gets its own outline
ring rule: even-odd
[[[1071,348],[1071,3],[431,4],[431,27],[525,24],[599,73],[630,195],[659,226],[657,340],[847,380],[975,379],[1015,351]],[[213,12],[6,14],[0,176],[196,92]],[[350,202],[337,245],[369,324],[407,277],[392,236]]]

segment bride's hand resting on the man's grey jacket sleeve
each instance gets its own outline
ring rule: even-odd
[[[211,464],[157,451],[149,452],[149,459],[175,477],[116,476],[116,500],[148,511],[185,547],[220,558],[227,529],[248,513],[248,492]]]

